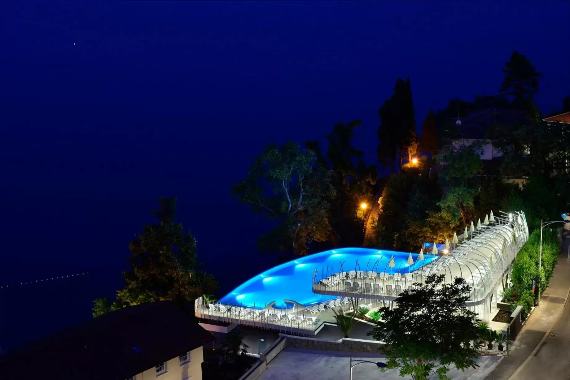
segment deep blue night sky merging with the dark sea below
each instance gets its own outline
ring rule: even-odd
[[[514,50],[570,95],[570,3],[0,2],[0,346],[90,317],[161,195],[227,291],[275,259],[231,186],[264,145],[322,139],[412,83],[418,128],[495,94]],[[79,279],[22,281],[89,272]]]

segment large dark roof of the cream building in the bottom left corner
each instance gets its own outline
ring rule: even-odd
[[[169,301],[137,305],[7,353],[0,378],[124,380],[213,340]]]

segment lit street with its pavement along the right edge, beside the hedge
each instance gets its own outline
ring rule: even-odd
[[[570,335],[570,324],[568,323],[569,308],[565,307],[568,292],[570,291],[570,263],[567,260],[567,247],[568,239],[564,239],[562,252],[558,256],[558,263],[554,268],[550,284],[540,300],[540,307],[536,308],[528,318],[523,330],[516,337],[510,349],[510,354],[503,357],[495,367],[495,370],[485,380],[508,380],[511,377],[511,380],[557,378],[547,375],[549,370],[557,373],[560,366],[549,367],[552,365],[553,359],[552,356],[545,358],[545,354],[549,352],[546,355],[552,355],[551,351],[556,349],[556,346],[551,344],[551,339],[554,338],[545,338],[545,336],[553,328],[556,331],[564,330],[564,333]],[[563,313],[564,317],[560,318]],[[557,321],[559,321],[558,324]],[[554,332],[554,330],[552,331]],[[543,342],[543,339],[545,339],[545,342]],[[557,341],[557,349],[560,350],[560,342],[563,342],[563,338],[556,339],[559,339]],[[565,341],[568,342],[568,340]],[[540,348],[538,348],[539,345],[541,345]],[[537,348],[538,352],[535,352]],[[568,365],[568,349],[564,351],[563,356],[565,361],[563,364]],[[560,379],[566,380],[568,377],[560,377]]]

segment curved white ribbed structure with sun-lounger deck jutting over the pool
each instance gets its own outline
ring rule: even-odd
[[[320,271],[323,274],[319,276],[319,271],[315,270],[313,291],[327,295],[392,301],[402,290],[412,288],[414,283],[422,283],[429,275],[445,275],[447,283],[455,277],[463,277],[471,286],[467,307],[477,312],[482,320],[489,321],[496,310],[498,291],[506,282],[503,279],[510,273],[516,254],[528,240],[526,218],[522,211],[495,216],[493,222],[475,229],[470,236],[471,239],[463,239],[460,244],[452,247],[448,254],[439,256],[437,260],[430,263],[418,260],[411,272],[410,268],[395,272],[389,270],[392,268],[384,268],[384,271],[378,271],[374,276],[343,278],[341,281],[334,281],[336,285],[327,286],[331,284],[330,279],[335,276],[338,278],[341,273]]]

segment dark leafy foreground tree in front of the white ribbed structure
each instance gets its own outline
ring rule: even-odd
[[[437,374],[443,380],[451,365],[460,370],[477,367],[477,314],[465,305],[471,288],[465,279],[444,283],[444,278],[430,275],[423,284],[406,289],[395,300],[398,307],[380,309],[382,320],[369,333],[384,342],[380,352],[386,355],[387,368],[399,368],[402,377],[426,380]]]

